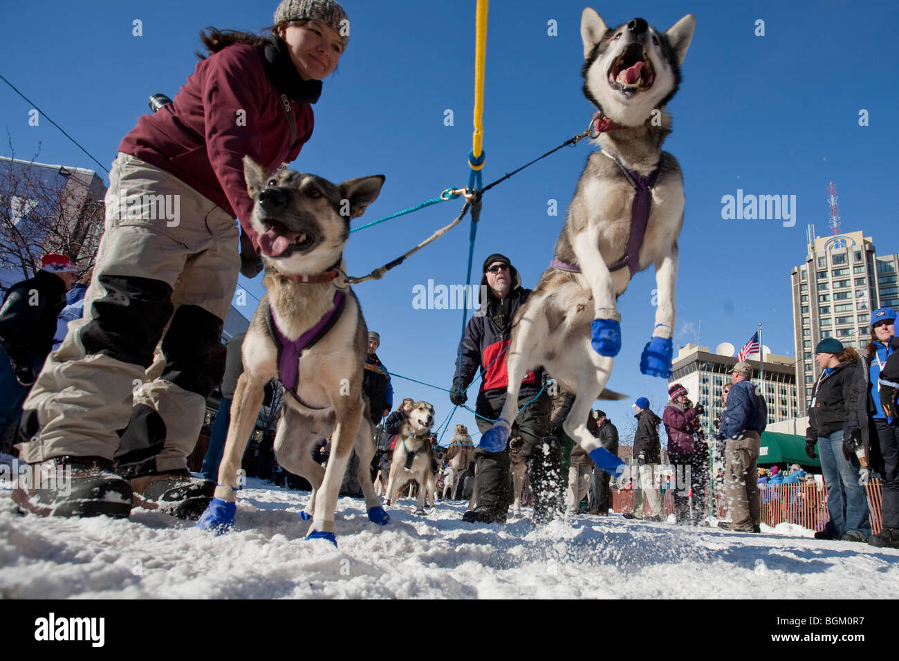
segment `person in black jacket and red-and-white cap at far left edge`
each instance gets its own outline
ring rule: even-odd
[[[76,265],[65,255],[44,255],[33,278],[16,282],[0,308],[0,434],[22,416],[22,402],[53,348],[66,292]]]

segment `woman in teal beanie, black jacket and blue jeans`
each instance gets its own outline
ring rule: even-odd
[[[859,354],[843,347],[839,340],[824,338],[814,348],[821,376],[815,381],[808,405],[806,453],[821,457],[821,472],[827,486],[830,522],[814,533],[819,540],[868,541],[868,495],[859,485],[859,460],[843,456],[843,428],[847,402],[851,399],[852,377]],[[783,480],[786,483],[786,478]]]

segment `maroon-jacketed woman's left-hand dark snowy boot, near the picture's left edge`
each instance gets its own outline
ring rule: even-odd
[[[56,457],[20,469],[13,501],[40,516],[111,516],[131,513],[131,487],[101,457]]]

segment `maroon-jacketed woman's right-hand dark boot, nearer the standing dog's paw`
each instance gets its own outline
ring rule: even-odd
[[[185,470],[147,475],[131,479],[134,506],[159,510],[179,519],[194,521],[206,511],[216,490],[216,483],[204,478],[191,478]]]

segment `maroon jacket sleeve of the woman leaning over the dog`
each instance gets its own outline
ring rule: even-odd
[[[264,127],[257,121],[266,94],[272,94],[263,61],[254,51],[224,49],[202,79],[205,138],[209,163],[247,237],[258,246],[250,227],[253,201],[246,192],[244,156],[262,162]],[[238,111],[245,111],[239,126]]]

